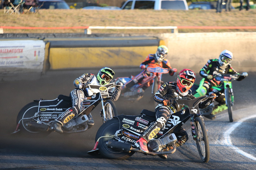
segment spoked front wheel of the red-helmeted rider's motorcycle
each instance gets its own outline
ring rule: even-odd
[[[201,117],[195,118],[195,124],[198,129],[197,149],[202,161],[207,163],[210,159],[210,147],[205,124]]]

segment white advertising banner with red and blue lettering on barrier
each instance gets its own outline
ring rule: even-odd
[[[45,43],[42,40],[0,41],[0,74],[42,72]]]

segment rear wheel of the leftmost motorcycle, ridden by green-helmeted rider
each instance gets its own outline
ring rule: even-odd
[[[23,118],[33,117],[35,115],[35,113],[38,112],[38,105],[39,105],[38,102],[31,102],[31,103],[25,105],[19,111],[17,119],[16,119],[16,123],[18,124],[19,121]],[[51,133],[49,131],[40,131],[36,128],[27,126],[26,124],[28,122],[31,122],[31,121],[35,121],[35,120],[25,119],[25,120],[20,121],[20,124],[19,124],[20,131],[23,132],[23,133],[27,133],[27,134],[29,134],[29,133],[38,133],[38,134],[46,134],[47,135],[47,134]]]

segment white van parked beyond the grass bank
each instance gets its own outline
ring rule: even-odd
[[[186,0],[128,0],[121,9],[188,10],[188,5]]]

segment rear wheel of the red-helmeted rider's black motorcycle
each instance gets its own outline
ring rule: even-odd
[[[115,135],[116,131],[119,130],[119,120],[117,118],[113,118],[106,123],[102,124],[96,134],[95,142],[101,137],[101,136],[112,136]],[[128,157],[132,156],[134,152],[123,152],[123,151],[117,151],[113,150],[111,148],[108,148],[106,146],[106,142],[108,142],[112,138],[101,138],[99,140],[98,149],[99,153],[104,156],[105,158],[110,159],[127,159]]]

